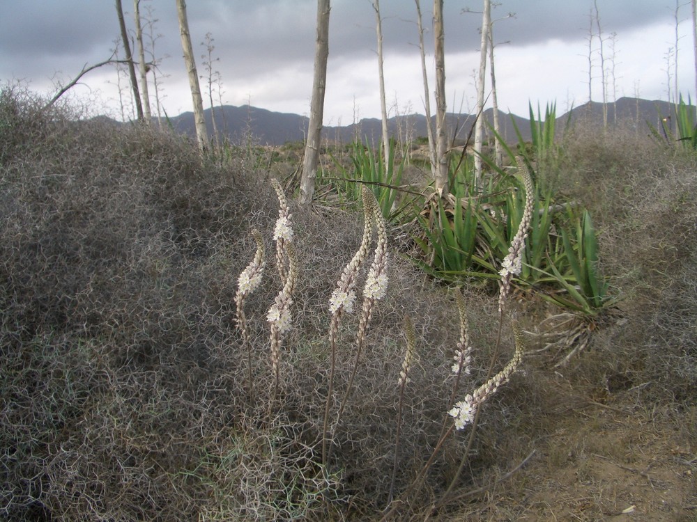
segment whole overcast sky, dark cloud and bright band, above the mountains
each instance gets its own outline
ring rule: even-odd
[[[433,77],[432,2],[422,0],[427,67]],[[527,115],[528,100],[557,103],[558,113],[588,101],[588,35],[592,0],[499,0],[492,11],[496,80],[501,109]],[[694,40],[689,2],[678,13],[677,81],[694,99]],[[479,63],[482,1],[445,0],[445,73],[448,111],[473,112]],[[608,99],[668,99],[675,86],[675,0],[597,0],[606,68],[614,64]],[[413,0],[381,0],[385,90],[390,115],[424,113]],[[132,0],[123,0],[133,24]],[[151,10],[162,104],[169,115],[191,110],[174,0],[141,0]],[[309,114],[316,24],[315,0],[188,0],[199,75],[205,75],[206,33],[224,104]],[[508,13],[514,17],[504,19]],[[379,117],[375,12],[369,0],[332,0],[325,125]],[[597,33],[597,28],[594,27]],[[615,38],[611,35],[615,33]],[[83,67],[104,61],[118,40],[113,0],[0,0],[0,80],[23,81],[52,94]],[[613,52],[614,43],[614,52]],[[600,58],[593,43],[593,100],[602,101]],[[611,58],[614,58],[611,60]],[[668,67],[670,63],[670,68]],[[487,73],[488,74],[488,73]],[[123,82],[124,80],[122,80]],[[613,86],[614,91],[613,93]],[[207,80],[201,79],[206,91]],[[112,66],[87,74],[71,93],[92,113],[120,118],[118,76]],[[151,98],[153,88],[151,87]],[[218,101],[215,95],[215,101]],[[208,100],[204,97],[204,106]],[[154,110],[154,109],[153,109]]]

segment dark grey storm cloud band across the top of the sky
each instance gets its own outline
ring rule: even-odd
[[[426,42],[431,47],[432,3],[422,3]],[[495,26],[499,41],[528,45],[557,38],[585,37],[590,0],[503,0],[493,17],[516,13],[514,19]],[[465,8],[480,10],[480,1],[446,1],[446,50],[474,51],[479,47],[480,15],[462,13]],[[141,2],[150,5],[158,40],[157,52],[181,56],[176,9],[173,0]],[[599,1],[604,31],[626,30],[673,16],[669,0]],[[123,0],[127,23],[132,26],[132,1]],[[187,3],[194,49],[210,32],[215,55],[238,74],[259,74],[289,63],[312,63],[314,54],[315,0],[190,0]],[[383,0],[385,52],[413,53],[418,42],[415,3],[411,0]],[[114,2],[107,0],[23,0],[5,2],[0,8],[1,74],[50,76],[56,70],[79,70],[85,61],[109,56],[118,38]],[[369,0],[332,2],[330,56],[360,58],[374,54],[375,14]],[[53,65],[53,68],[51,68]]]

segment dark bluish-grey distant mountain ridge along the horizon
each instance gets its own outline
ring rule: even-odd
[[[646,122],[658,127],[661,118],[673,113],[673,104],[661,100],[642,100],[641,98],[622,97],[607,104],[608,125],[638,125],[648,132]],[[541,107],[544,118],[544,107]],[[204,111],[208,132],[213,133],[210,109]],[[537,117],[537,107],[535,107]],[[484,111],[484,118],[493,121],[493,109]],[[432,118],[434,119],[434,118]],[[500,111],[501,134],[507,142],[517,141],[512,124],[515,121],[526,141],[530,139],[530,120],[522,116]],[[574,107],[571,111],[556,118],[557,128],[561,129],[567,121],[590,120],[597,124],[603,121],[603,104],[587,102]],[[177,132],[194,136],[194,114],[185,112],[170,117],[169,121]],[[219,131],[233,143],[243,143],[247,136],[261,145],[283,145],[287,142],[303,141],[307,133],[309,118],[293,113],[279,113],[254,106],[225,105],[215,108],[215,122]],[[447,114],[447,125],[451,132],[457,131],[456,143],[464,143],[475,122],[471,114]],[[395,138],[409,136],[416,138],[427,135],[426,117],[422,114],[395,116],[388,120],[388,129]],[[377,118],[364,118],[358,123],[345,126],[325,126],[322,138],[327,141],[350,143],[358,136],[362,141],[378,143],[381,139],[381,121]]]

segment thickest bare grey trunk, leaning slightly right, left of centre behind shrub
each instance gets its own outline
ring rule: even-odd
[[[319,148],[321,145],[322,119],[324,117],[324,93],[327,84],[329,58],[330,0],[317,0],[317,38],[314,54],[314,79],[310,101],[309,128],[305,143],[305,159],[300,177],[300,205],[312,205],[314,180],[317,177]]]

